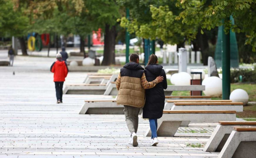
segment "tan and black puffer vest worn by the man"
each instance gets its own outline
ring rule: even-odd
[[[135,62],[127,63],[121,68],[121,84],[116,102],[118,105],[144,107],[145,90],[140,81],[143,73],[144,68]]]

